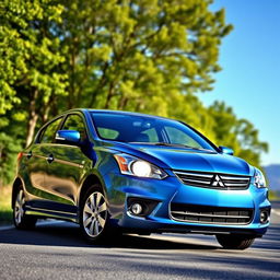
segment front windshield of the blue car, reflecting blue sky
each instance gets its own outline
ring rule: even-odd
[[[91,116],[102,139],[214,150],[213,144],[176,120],[103,112],[92,112]]]

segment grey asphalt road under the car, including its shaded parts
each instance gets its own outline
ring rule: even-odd
[[[280,279],[280,203],[268,233],[246,250],[212,236],[128,235],[90,246],[59,222],[34,231],[0,229],[0,279]]]

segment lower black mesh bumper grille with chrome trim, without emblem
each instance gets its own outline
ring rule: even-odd
[[[182,222],[248,224],[253,209],[171,203],[171,217]]]

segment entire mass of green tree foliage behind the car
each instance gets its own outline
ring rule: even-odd
[[[221,70],[232,25],[211,0],[2,0],[0,151],[3,183],[15,151],[72,107],[135,110],[185,120],[259,165],[257,130],[225,104],[196,95]],[[26,137],[27,136],[27,137]],[[18,139],[16,145],[12,142]]]

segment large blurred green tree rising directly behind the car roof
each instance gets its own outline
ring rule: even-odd
[[[221,38],[232,28],[211,2],[65,1],[68,107],[167,116],[174,95],[210,90]]]

